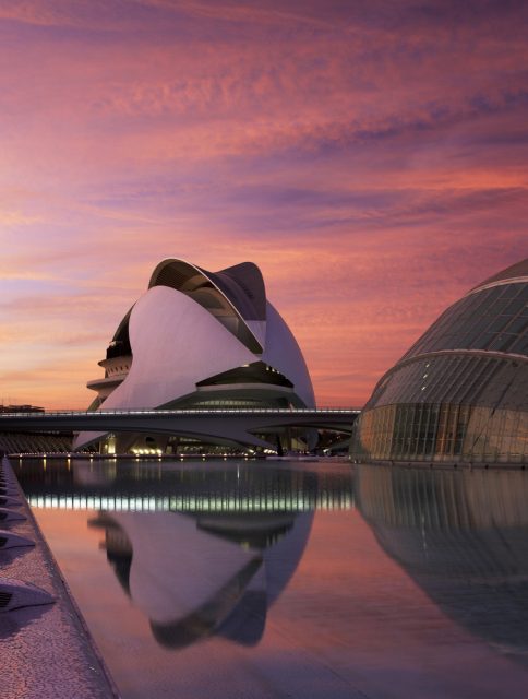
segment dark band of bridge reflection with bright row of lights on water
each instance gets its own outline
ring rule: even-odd
[[[32,507],[187,513],[304,512],[350,509],[350,467],[274,467],[269,462],[202,462],[192,467],[72,459],[24,462],[17,477]]]

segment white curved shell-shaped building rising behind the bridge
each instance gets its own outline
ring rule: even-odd
[[[87,384],[97,392],[89,410],[315,406],[299,345],[252,262],[214,273],[160,262],[99,366],[105,376]],[[100,439],[81,433],[74,448]],[[137,441],[121,435],[112,450]]]

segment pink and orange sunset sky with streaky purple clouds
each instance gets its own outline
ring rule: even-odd
[[[156,263],[250,260],[361,406],[528,254],[528,3],[0,0],[0,398],[85,407]]]

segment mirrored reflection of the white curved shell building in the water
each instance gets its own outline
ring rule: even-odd
[[[259,642],[266,609],[293,573],[311,513],[99,513],[108,561],[157,641],[181,648],[217,633]]]

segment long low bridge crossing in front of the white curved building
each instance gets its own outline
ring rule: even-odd
[[[288,427],[350,434],[359,413],[356,408],[337,407],[2,413],[0,433],[88,431],[94,439],[108,433],[147,433],[269,447],[271,442],[257,435],[277,434]]]

